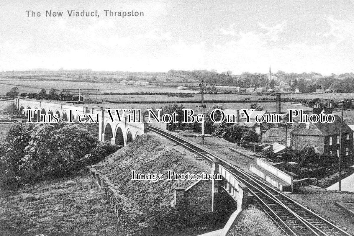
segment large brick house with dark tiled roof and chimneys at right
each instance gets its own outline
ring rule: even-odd
[[[313,146],[319,154],[328,153],[339,156],[339,134],[341,119],[335,115],[333,123],[301,123],[291,131],[291,148],[303,149],[305,146]],[[343,122],[342,133],[342,157],[343,160],[353,158],[353,131]]]

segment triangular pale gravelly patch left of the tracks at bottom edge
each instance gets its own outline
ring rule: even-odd
[[[281,236],[284,235],[267,215],[251,205],[242,211],[227,236]]]

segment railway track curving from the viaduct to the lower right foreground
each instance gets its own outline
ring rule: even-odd
[[[268,183],[259,180],[239,167],[225,161],[193,143],[162,129],[148,126],[148,130],[158,133],[175,143],[199,154],[207,161],[218,160],[236,179],[244,183],[261,207],[287,236],[352,236],[310,209],[292,200]]]

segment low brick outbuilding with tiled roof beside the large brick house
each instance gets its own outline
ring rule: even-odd
[[[274,125],[274,124],[273,124]],[[286,146],[290,147],[291,145],[291,131],[293,129],[285,129],[285,128],[269,128],[267,131],[265,131],[262,134],[262,142],[264,143],[279,143],[281,145],[285,145],[285,140]]]

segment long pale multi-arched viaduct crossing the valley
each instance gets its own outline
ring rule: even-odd
[[[126,145],[147,131],[147,124],[145,122],[127,122],[127,113],[123,116],[124,119],[121,122],[119,122],[118,117],[114,117],[115,119],[112,121],[108,112],[103,107],[22,98],[16,98],[15,103],[21,112],[23,109],[39,109],[40,114],[56,114],[62,120],[68,120],[69,110],[72,110],[73,121],[77,121],[80,115],[91,114],[92,117],[98,117],[98,139],[102,142]],[[32,114],[34,121],[38,119],[38,115],[36,113]]]

